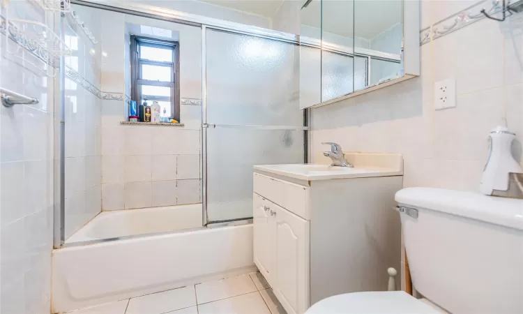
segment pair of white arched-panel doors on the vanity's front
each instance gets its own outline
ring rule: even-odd
[[[255,264],[287,313],[303,313],[310,304],[310,221],[257,193],[253,197]]]

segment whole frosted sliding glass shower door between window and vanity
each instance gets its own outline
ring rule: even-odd
[[[218,29],[205,37],[207,221],[251,218],[252,166],[305,160],[299,47]]]

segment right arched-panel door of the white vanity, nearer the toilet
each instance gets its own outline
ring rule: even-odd
[[[275,211],[274,294],[287,313],[302,314],[309,307],[309,221],[281,207],[271,209]]]

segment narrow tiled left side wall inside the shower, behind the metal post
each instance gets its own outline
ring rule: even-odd
[[[100,89],[100,15],[96,15],[93,8],[75,6],[74,10],[98,43],[91,42],[73,19],[67,19],[66,42],[72,51],[71,56],[66,57],[66,64]],[[66,238],[101,211],[101,118],[102,100],[82,84],[66,77]]]

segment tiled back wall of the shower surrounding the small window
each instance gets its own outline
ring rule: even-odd
[[[121,82],[124,80],[125,50],[123,44],[106,43],[106,40],[118,36],[120,29],[123,40],[127,22],[179,32],[181,97],[202,97],[201,29],[107,11],[104,16],[110,20],[107,23],[114,27],[114,31],[102,38],[102,47],[108,56],[103,63],[102,90],[121,92],[119,85],[116,86],[112,80],[117,77]],[[202,107],[181,105],[183,127],[123,126],[120,121],[126,117],[125,108],[121,100],[103,100],[103,210],[201,202]]]

